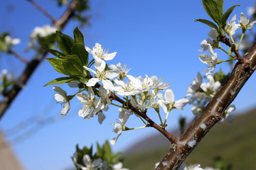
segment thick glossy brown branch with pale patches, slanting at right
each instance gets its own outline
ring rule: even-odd
[[[222,118],[225,109],[238,95],[240,89],[256,69],[256,44],[243,57],[244,62],[235,64],[227,81],[208,103],[201,115],[178,137],[156,169],[176,170],[188,154],[198,145],[206,133]]]

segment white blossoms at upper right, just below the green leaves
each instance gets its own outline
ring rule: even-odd
[[[227,35],[230,37],[230,39],[232,40],[233,45],[235,45],[235,41],[233,40],[232,35],[235,34],[235,31],[238,28],[242,28],[242,36],[240,39],[239,44],[235,45],[236,49],[239,49],[240,47],[240,43],[242,41],[243,38],[243,34],[245,33],[245,30],[247,29],[252,29],[253,25],[256,23],[256,21],[252,21],[250,23],[250,18],[246,18],[245,14],[240,13],[240,20],[238,21],[238,23],[236,23],[236,15],[233,16],[233,18],[231,18],[230,22],[226,21],[225,23],[225,33],[227,33]],[[207,54],[201,54],[199,55],[199,60],[201,60],[201,62],[203,62],[204,64],[208,65],[207,69],[204,69],[203,72],[207,72],[206,74],[212,74],[214,72],[214,69],[216,67],[216,64],[220,64],[221,62],[228,62],[230,60],[220,60],[218,59],[218,55],[216,52],[213,52],[213,50],[215,48],[218,48],[220,50],[223,50],[223,48],[221,47],[221,45],[219,44],[219,42],[221,41],[219,39],[219,34],[218,31],[215,28],[210,28],[210,33],[208,33],[208,36],[210,38],[207,38],[206,40],[203,40],[201,42],[201,47],[203,49],[199,50],[199,51],[206,51],[208,50],[208,52],[210,53],[210,55]],[[231,50],[231,47],[230,49]],[[235,59],[235,57],[233,57],[232,51],[231,52],[226,52],[225,50],[223,50],[226,54],[228,54],[230,57],[233,58],[233,60]]]

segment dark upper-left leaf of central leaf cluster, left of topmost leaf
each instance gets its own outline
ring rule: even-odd
[[[71,48],[74,45],[74,40],[70,36],[57,31],[57,44],[58,48],[65,55],[72,55]]]

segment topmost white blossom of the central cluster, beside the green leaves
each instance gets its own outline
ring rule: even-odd
[[[85,50],[92,54],[92,57],[95,59],[95,67],[102,70],[106,67],[104,60],[112,60],[117,52],[112,52],[108,54],[109,50],[105,50],[102,45],[95,43],[95,47],[92,47],[92,50],[89,47],[85,46]],[[104,59],[104,60],[103,60]]]

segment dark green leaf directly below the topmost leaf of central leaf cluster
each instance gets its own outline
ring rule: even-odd
[[[85,45],[75,43],[71,49],[73,55],[77,55],[82,62],[82,66],[88,64],[88,52],[85,50]]]

